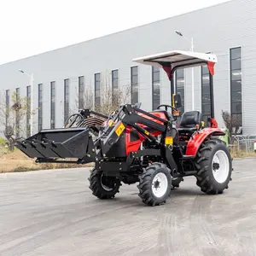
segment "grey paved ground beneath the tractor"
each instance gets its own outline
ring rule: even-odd
[[[2,174],[0,255],[256,255],[256,160],[234,166],[223,195],[189,177],[162,207],[145,207],[135,185],[99,201],[84,169]]]

